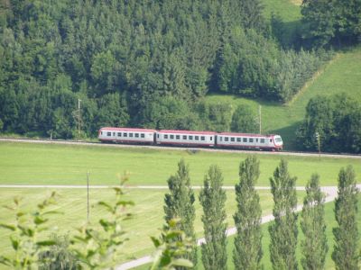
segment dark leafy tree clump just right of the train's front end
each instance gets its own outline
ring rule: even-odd
[[[361,153],[360,123],[361,104],[351,97],[316,96],[307,104],[297,139],[308,150],[320,147],[322,151]]]

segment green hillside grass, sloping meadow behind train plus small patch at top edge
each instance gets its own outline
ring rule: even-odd
[[[281,16],[288,31],[298,26],[301,20],[301,0],[263,0],[264,16],[272,14]],[[287,35],[287,33],[286,33]],[[339,52],[325,67],[301,89],[301,93],[288,104],[267,101],[255,101],[234,95],[211,94],[207,97],[210,103],[248,104],[258,113],[262,105],[262,122],[264,133],[280,133],[285,148],[295,148],[294,134],[305,115],[305,107],[310,98],[317,94],[347,93],[361,102],[361,47]]]

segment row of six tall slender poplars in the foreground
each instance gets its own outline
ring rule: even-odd
[[[239,166],[239,183],[236,184],[236,224],[233,262],[235,269],[263,269],[264,251],[261,230],[262,210],[255,184],[260,175],[259,161],[247,157]],[[288,165],[282,159],[270,178],[273,194],[274,221],[269,225],[270,255],[273,269],[298,269],[296,248],[298,246],[298,222],[296,177],[291,176]],[[184,160],[178,164],[177,175],[168,180],[170,193],[165,195],[165,220],[180,218],[180,229],[188,231],[193,238],[194,249],[188,258],[197,264],[195,219],[195,195],[190,187],[189,167]],[[204,185],[199,193],[203,208],[202,222],[205,243],[201,244],[201,259],[206,269],[227,269],[227,201],[222,189],[223,177],[218,166],[210,166]],[[333,229],[335,246],[332,259],[337,269],[357,269],[359,262],[357,231],[356,175],[352,166],[342,168],[338,175],[338,198],[335,202],[335,218],[338,227]],[[319,186],[319,175],[311,176],[306,185],[306,196],[301,211],[301,266],[304,269],[322,269],[329,251],[326,235],[325,195]]]

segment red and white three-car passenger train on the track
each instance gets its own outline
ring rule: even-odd
[[[208,148],[250,148],[282,150],[280,135],[195,130],[148,130],[106,127],[99,130],[102,142],[170,145]]]

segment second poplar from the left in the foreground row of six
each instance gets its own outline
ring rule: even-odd
[[[222,190],[223,176],[218,166],[210,166],[199,193],[203,207],[203,228],[206,244],[202,244],[202,262],[205,269],[227,269],[227,214],[226,191]]]

